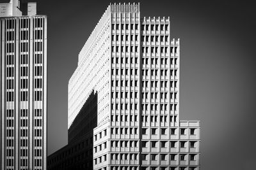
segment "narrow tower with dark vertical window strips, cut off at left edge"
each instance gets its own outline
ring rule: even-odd
[[[0,169],[46,169],[47,18],[36,3],[0,4]]]

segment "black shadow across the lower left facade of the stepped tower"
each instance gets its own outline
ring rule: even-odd
[[[93,129],[97,127],[97,92],[92,91],[68,129],[68,145],[47,158],[47,169],[93,169]]]

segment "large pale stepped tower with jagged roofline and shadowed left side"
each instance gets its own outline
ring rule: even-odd
[[[169,17],[110,4],[69,80],[68,145],[49,156],[49,169],[200,169],[200,122],[179,117],[179,66]],[[81,152],[85,138],[91,152]]]

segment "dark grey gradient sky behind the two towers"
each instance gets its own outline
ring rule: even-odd
[[[141,17],[170,16],[180,38],[180,119],[201,121],[202,169],[255,169],[253,1],[138,2]],[[109,3],[38,1],[48,17],[48,155],[67,144],[68,80]]]

